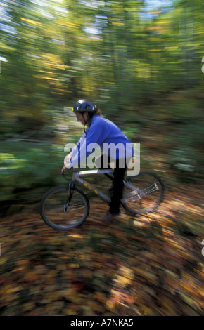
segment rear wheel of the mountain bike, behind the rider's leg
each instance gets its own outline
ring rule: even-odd
[[[164,190],[159,176],[141,171],[138,176],[129,176],[125,181],[122,206],[133,214],[151,212],[160,204]]]

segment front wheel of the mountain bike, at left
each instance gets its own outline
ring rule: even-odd
[[[89,200],[77,188],[67,185],[53,187],[44,194],[40,215],[46,225],[56,230],[70,230],[81,226],[89,214]]]

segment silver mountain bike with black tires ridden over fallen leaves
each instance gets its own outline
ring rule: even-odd
[[[67,171],[67,170],[65,170]],[[75,186],[79,183],[94,192],[107,203],[110,194],[104,194],[84,180],[84,176],[108,174],[113,177],[113,169],[93,169],[88,171],[72,171],[72,179],[65,185],[51,188],[40,202],[40,215],[46,225],[56,230],[71,230],[80,227],[89,215],[89,199]],[[63,177],[66,178],[63,171]],[[158,175],[149,171],[141,171],[137,176],[129,176],[123,181],[124,189],[121,204],[132,215],[146,214],[157,208],[164,194],[164,184]]]

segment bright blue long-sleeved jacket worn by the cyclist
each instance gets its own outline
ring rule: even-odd
[[[99,145],[104,154],[112,159],[132,158],[134,149],[127,136],[112,121],[94,116],[91,126],[73,148],[70,165],[78,167]],[[79,166],[80,167],[80,166]]]

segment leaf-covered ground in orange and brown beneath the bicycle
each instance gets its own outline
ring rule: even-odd
[[[32,205],[1,218],[0,315],[200,315],[203,187],[166,192],[158,210],[79,229],[47,227]]]

